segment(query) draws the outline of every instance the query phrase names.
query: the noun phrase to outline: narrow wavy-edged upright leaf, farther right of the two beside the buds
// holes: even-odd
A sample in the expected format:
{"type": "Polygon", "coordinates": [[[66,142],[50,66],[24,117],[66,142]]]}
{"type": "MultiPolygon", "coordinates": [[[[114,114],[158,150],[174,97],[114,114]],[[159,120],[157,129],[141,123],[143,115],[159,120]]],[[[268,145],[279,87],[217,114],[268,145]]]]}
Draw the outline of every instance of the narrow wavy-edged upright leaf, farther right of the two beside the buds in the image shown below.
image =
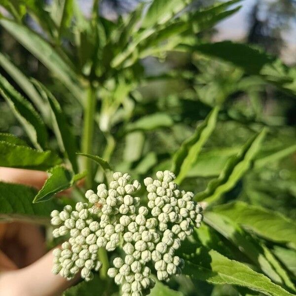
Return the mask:
{"type": "Polygon", "coordinates": [[[204,191],[195,195],[195,199],[213,202],[232,189],[249,170],[266,132],[264,128],[258,135],[250,139],[237,155],[229,159],[219,177],[210,181],[204,191]]]}

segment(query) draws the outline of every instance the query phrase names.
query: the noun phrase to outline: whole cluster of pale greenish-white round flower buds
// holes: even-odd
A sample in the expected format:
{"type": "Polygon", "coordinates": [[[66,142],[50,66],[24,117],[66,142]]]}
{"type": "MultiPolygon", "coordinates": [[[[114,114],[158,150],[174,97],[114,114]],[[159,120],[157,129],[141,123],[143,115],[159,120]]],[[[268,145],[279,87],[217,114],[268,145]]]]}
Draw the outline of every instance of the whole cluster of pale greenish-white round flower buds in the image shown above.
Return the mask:
{"type": "Polygon", "coordinates": [[[182,241],[199,227],[202,208],[193,201],[193,193],[180,190],[170,171],[158,171],[156,180],[146,178],[147,206],[135,196],[141,188],[131,176],[116,172],[109,187],[100,184],[97,193],[88,190],[87,203],[78,202],[75,209],[64,207],[51,213],[51,223],[59,226],[53,236],[70,234],[61,249],[54,250],[53,272],[72,279],[81,270],[86,281],[93,277],[102,262],[98,249],[124,254],[113,260],[108,275],[121,287],[122,296],[148,295],[154,286],[149,277],[152,263],[159,280],[179,275],[184,260],[175,256],[182,241]]]}

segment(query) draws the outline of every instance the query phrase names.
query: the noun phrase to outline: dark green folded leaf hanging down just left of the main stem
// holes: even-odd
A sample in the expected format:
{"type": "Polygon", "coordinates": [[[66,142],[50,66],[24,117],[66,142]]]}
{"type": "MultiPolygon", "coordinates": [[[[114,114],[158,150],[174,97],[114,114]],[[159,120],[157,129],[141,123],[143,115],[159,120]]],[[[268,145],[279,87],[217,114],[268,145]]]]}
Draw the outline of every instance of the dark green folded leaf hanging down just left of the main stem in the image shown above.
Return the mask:
{"type": "Polygon", "coordinates": [[[76,151],[77,145],[72,129],[67,122],[59,102],[52,93],[41,83],[34,80],[40,95],[49,103],[51,109],[51,123],[61,151],[69,158],[75,173],[78,171],[76,151]]]}

